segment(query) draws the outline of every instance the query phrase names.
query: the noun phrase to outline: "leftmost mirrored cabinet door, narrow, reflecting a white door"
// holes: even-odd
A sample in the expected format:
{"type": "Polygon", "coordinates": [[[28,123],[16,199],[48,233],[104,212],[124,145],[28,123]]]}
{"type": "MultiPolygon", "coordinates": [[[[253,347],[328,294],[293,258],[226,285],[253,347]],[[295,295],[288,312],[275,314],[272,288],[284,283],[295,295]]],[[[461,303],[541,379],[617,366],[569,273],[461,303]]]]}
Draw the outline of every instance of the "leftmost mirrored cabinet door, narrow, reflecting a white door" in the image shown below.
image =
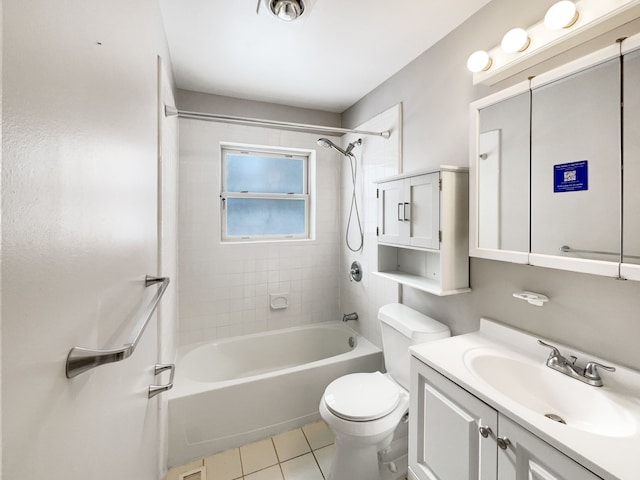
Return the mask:
{"type": "Polygon", "coordinates": [[[470,105],[472,257],[528,263],[529,83],[470,105]]]}

